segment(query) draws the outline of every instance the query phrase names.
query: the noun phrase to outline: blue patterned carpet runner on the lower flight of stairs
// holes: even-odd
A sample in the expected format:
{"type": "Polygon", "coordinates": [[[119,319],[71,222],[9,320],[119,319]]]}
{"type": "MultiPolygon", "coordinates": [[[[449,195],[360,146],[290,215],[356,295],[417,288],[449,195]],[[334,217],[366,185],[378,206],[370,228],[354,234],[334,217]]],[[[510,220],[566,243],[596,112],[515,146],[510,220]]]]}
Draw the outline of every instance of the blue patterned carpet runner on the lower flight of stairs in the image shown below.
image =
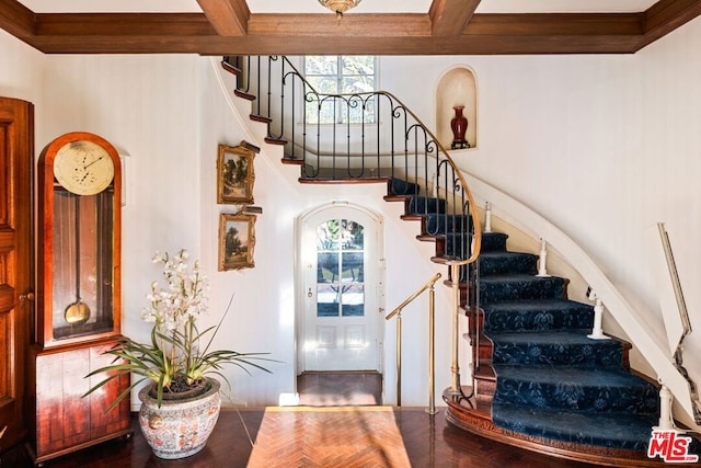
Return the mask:
{"type": "Polygon", "coordinates": [[[480,299],[493,342],[495,425],[530,436],[646,450],[657,389],[623,367],[624,344],[591,340],[594,309],[565,299],[566,282],[538,277],[537,256],[483,235],[480,299]]]}

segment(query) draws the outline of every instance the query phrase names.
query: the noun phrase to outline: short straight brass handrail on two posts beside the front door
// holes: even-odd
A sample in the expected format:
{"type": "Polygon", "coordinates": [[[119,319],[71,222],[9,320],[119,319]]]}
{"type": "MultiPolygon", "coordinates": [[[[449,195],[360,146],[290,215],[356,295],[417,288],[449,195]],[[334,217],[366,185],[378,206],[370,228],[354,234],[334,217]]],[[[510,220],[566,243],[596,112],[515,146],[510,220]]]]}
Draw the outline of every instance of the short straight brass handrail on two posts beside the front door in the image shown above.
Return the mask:
{"type": "Polygon", "coordinates": [[[416,299],[423,292],[428,292],[428,414],[436,414],[436,378],[435,378],[435,334],[436,334],[436,292],[434,284],[440,278],[440,273],[436,273],[430,279],[424,283],[418,289],[412,293],[402,304],[387,315],[384,320],[390,320],[397,316],[397,406],[402,406],[402,309],[416,299]]]}

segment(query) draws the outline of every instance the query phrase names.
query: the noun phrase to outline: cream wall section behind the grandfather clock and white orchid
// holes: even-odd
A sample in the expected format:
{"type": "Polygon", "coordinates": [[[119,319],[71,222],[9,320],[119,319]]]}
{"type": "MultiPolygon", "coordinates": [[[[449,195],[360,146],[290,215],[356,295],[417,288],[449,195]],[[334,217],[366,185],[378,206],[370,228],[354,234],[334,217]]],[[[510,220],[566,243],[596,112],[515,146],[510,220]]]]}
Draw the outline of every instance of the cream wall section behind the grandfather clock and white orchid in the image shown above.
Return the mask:
{"type": "Polygon", "coordinates": [[[199,254],[197,60],[188,56],[47,56],[44,129],[37,148],[76,130],[101,135],[122,153],[123,331],[147,339],[140,320],[158,271],[156,250],[199,254]]]}

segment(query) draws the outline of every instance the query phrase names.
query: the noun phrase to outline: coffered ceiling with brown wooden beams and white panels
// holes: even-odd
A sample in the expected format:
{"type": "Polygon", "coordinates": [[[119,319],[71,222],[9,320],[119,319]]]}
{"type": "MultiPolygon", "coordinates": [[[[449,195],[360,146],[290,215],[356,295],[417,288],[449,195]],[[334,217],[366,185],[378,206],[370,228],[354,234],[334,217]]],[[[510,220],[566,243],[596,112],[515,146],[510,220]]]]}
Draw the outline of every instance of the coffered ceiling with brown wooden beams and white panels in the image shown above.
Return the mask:
{"type": "Polygon", "coordinates": [[[0,0],[0,27],[47,54],[633,54],[701,0],[0,0]]]}

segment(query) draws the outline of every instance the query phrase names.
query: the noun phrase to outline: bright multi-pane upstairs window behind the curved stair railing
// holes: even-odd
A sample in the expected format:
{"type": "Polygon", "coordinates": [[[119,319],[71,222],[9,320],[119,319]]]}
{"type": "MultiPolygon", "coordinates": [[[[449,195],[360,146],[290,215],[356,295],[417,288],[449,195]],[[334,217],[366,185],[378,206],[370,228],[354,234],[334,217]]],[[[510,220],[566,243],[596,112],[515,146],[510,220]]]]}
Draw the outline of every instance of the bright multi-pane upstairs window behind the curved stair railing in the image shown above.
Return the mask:
{"type": "MultiPolygon", "coordinates": [[[[304,77],[321,94],[359,94],[377,88],[376,58],[370,55],[304,57],[304,77]]],[[[375,123],[375,98],[350,95],[343,100],[307,102],[311,124],[375,123]]]]}

